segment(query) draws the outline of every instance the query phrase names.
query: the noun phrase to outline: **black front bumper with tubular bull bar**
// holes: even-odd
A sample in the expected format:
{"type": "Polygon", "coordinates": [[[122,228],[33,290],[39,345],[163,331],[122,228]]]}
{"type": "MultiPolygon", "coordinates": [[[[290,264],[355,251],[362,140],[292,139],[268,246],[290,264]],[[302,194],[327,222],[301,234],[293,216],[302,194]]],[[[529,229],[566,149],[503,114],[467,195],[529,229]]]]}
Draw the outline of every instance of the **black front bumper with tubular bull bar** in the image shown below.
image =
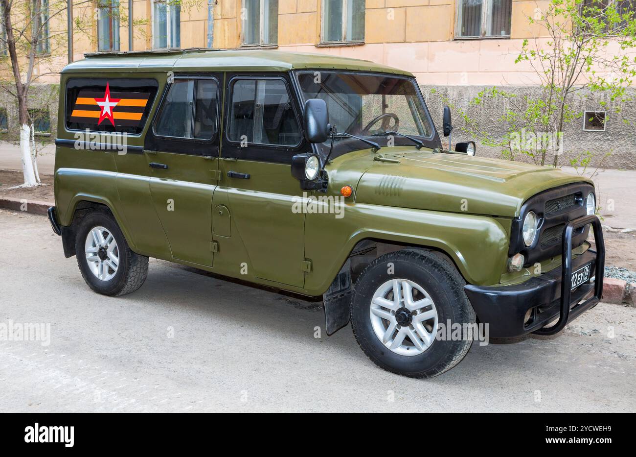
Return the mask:
{"type": "Polygon", "coordinates": [[[480,322],[488,323],[490,336],[516,337],[530,332],[554,335],[598,304],[603,292],[605,246],[597,216],[583,216],[567,223],[562,246],[562,266],[525,283],[511,286],[466,285],[466,295],[480,322]],[[596,251],[588,250],[572,259],[572,232],[587,224],[593,227],[596,251]],[[570,290],[572,272],[588,263],[591,263],[591,271],[594,272],[590,273],[590,279],[594,274],[595,281],[570,290]],[[556,318],[555,325],[545,327],[556,318]]]}

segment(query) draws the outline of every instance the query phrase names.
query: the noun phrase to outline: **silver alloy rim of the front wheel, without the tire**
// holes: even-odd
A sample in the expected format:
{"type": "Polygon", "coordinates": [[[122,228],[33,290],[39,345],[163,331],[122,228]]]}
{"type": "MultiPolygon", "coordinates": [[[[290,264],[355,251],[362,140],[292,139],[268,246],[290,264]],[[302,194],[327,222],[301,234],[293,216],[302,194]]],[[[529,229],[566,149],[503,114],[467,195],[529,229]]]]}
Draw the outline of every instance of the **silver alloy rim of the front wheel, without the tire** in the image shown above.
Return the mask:
{"type": "Polygon", "coordinates": [[[375,335],[396,354],[421,354],[435,340],[435,304],[421,286],[408,279],[391,279],[378,287],[370,316],[375,335]]]}

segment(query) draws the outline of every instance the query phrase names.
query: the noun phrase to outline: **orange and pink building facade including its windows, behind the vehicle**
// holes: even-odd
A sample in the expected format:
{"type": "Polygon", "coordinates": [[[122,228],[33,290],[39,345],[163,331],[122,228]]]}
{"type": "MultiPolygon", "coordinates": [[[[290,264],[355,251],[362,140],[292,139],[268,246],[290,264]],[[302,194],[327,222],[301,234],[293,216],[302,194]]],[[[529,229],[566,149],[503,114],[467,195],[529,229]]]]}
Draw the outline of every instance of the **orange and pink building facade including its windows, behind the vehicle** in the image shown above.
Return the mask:
{"type": "MultiPolygon", "coordinates": [[[[48,4],[56,0],[41,1],[48,4]]],[[[632,0],[605,1],[619,2],[621,8],[636,10],[636,2],[632,0]]],[[[467,102],[489,86],[506,86],[520,95],[532,94],[539,82],[537,74],[529,64],[515,63],[515,59],[524,39],[536,39],[537,43],[548,40],[542,36],[545,35],[542,27],[531,19],[538,18],[550,0],[96,0],[76,3],[73,20],[79,27],[73,30],[73,60],[83,58],[84,53],[130,50],[128,16],[129,4],[132,4],[132,50],[264,48],[368,59],[415,74],[439,125],[443,100],[467,108],[467,102]]],[[[65,15],[55,21],[51,22],[53,29],[65,29],[65,15]]],[[[66,64],[66,48],[56,48],[55,54],[48,43],[42,46],[48,46],[46,49],[51,53],[46,69],[61,69],[66,64]]],[[[52,71],[40,82],[56,81],[52,71]]],[[[6,105],[6,95],[0,95],[0,132],[3,125],[4,131],[10,130],[10,107],[6,105]]],[[[504,106],[496,104],[481,106],[473,108],[473,115],[497,134],[500,133],[497,118],[503,109],[504,106]]],[[[591,101],[582,109],[597,113],[601,107],[598,101],[591,101]]],[[[634,111],[628,107],[623,116],[635,115],[634,111]]],[[[566,131],[566,135],[572,139],[570,144],[574,144],[575,149],[580,144],[607,150],[612,135],[614,138],[623,136],[621,128],[621,119],[606,122],[602,129],[596,130],[585,129],[581,122],[569,127],[571,131],[566,131]]],[[[630,166],[632,157],[625,152],[627,145],[621,144],[619,141],[621,158],[614,162],[616,166],[630,166]]],[[[490,153],[496,155],[497,151],[490,153]]]]}

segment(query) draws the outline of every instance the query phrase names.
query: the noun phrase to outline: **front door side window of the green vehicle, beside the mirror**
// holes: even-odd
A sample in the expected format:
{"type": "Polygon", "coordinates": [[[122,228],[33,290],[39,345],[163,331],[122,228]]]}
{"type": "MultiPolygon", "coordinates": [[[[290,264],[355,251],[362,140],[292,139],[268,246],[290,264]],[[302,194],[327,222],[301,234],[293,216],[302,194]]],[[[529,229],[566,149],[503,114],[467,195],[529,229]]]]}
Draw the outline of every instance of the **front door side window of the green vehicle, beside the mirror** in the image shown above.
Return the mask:
{"type": "Polygon", "coordinates": [[[228,139],[270,146],[300,144],[300,125],[283,80],[233,83],[228,139]]]}

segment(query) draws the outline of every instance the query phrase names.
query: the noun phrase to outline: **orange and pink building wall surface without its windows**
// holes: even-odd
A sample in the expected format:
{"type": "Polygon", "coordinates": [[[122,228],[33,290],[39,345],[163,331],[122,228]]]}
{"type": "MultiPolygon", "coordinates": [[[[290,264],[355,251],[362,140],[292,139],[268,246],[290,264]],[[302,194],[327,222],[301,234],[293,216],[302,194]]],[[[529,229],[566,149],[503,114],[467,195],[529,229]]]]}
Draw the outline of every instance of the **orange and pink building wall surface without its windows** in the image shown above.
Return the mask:
{"type": "MultiPolygon", "coordinates": [[[[213,47],[240,48],[242,20],[241,0],[211,0],[213,4],[213,47]]],[[[184,0],[181,10],[181,48],[205,48],[208,38],[208,0],[184,0]]],[[[523,39],[536,38],[539,45],[548,40],[539,36],[541,28],[530,24],[528,16],[536,8],[544,8],[549,0],[513,0],[510,38],[455,39],[456,0],[366,0],[364,43],[356,45],[321,44],[322,0],[279,0],[278,44],[279,50],[328,53],[357,59],[368,59],[415,74],[431,109],[436,125],[441,125],[442,95],[456,106],[468,109],[471,116],[480,118],[488,131],[502,134],[497,122],[506,107],[485,104],[480,108],[469,107],[467,102],[483,87],[504,85],[508,92],[520,97],[531,94],[538,83],[536,74],[528,64],[515,64],[515,58],[523,39]],[[436,92],[431,94],[431,88],[436,92]]],[[[120,0],[122,17],[128,16],[128,3],[120,0]]],[[[82,24],[82,31],[74,32],[74,60],[83,58],[83,53],[97,51],[97,25],[93,17],[95,3],[75,6],[74,18],[82,24]]],[[[151,0],[134,1],[134,50],[152,48],[152,3],[151,0]]],[[[55,29],[64,30],[66,17],[56,18],[55,29]]],[[[55,85],[59,81],[57,72],[66,65],[66,41],[62,40],[51,57],[39,59],[36,71],[43,76],[39,83],[55,85]]],[[[272,46],[268,46],[272,47],[272,46]]],[[[120,23],[120,50],[127,51],[128,24],[120,23]]],[[[611,50],[609,51],[611,53],[611,50]]],[[[8,67],[2,70],[4,76],[8,67]]],[[[10,74],[8,74],[10,76],[10,74]]],[[[57,101],[40,100],[37,94],[47,93],[46,86],[34,88],[31,107],[49,108],[53,115],[57,111],[57,101]],[[39,106],[42,104],[43,106],[39,106]]],[[[600,101],[590,98],[584,109],[600,109],[600,101]]],[[[7,109],[10,116],[10,132],[1,134],[0,139],[17,136],[17,113],[15,102],[6,94],[0,97],[0,107],[7,109]],[[15,113],[13,116],[12,113],[15,113]]],[[[608,113],[611,104],[607,107],[608,113]]],[[[623,111],[627,119],[636,118],[633,106],[623,111]]],[[[582,122],[574,122],[566,129],[566,149],[570,156],[586,150],[594,150],[597,157],[605,153],[605,166],[636,167],[632,153],[632,139],[629,127],[619,116],[609,116],[605,132],[584,132],[582,122]]],[[[52,128],[55,123],[52,122],[52,128]]],[[[457,140],[462,139],[459,129],[455,130],[457,140]]],[[[52,137],[55,132],[52,133],[52,137]]],[[[466,139],[466,138],[463,138],[466,139]]],[[[480,148],[480,152],[496,157],[499,151],[480,148]]],[[[574,156],[572,156],[574,155],[574,156]]],[[[565,163],[563,162],[562,163],[565,163]]],[[[598,161],[598,158],[595,159],[598,161]]]]}

